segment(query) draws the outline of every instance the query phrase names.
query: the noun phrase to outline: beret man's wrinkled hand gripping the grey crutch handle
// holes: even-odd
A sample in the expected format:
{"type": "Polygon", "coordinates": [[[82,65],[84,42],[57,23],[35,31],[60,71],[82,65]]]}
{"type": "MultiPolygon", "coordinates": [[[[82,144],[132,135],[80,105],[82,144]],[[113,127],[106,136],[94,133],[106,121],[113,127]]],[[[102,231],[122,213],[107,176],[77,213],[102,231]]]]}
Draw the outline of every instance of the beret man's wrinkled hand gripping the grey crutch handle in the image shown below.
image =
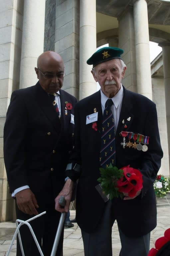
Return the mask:
{"type": "Polygon", "coordinates": [[[73,190],[74,182],[70,179],[68,179],[62,189],[62,191],[59,193],[59,195],[55,198],[55,209],[58,212],[68,212],[70,207],[70,201],[72,198],[72,190],[73,190]],[[61,196],[65,197],[66,204],[65,207],[62,207],[59,204],[59,199],[61,196]]]}

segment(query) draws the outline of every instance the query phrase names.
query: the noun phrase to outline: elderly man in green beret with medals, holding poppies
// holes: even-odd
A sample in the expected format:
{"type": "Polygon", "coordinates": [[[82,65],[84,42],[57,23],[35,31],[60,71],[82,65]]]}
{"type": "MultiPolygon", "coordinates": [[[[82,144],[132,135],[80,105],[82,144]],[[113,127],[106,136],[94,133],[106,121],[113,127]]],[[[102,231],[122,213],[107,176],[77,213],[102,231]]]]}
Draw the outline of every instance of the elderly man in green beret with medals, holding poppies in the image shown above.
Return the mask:
{"type": "MultiPolygon", "coordinates": [[[[147,256],[150,231],[156,226],[156,201],[153,182],[163,152],[156,105],[148,98],[122,85],[126,65],[122,49],[104,47],[88,60],[100,90],[75,106],[75,148],[66,168],[68,179],[55,199],[56,210],[68,211],[74,183],[77,188],[76,220],[82,231],[85,256],[112,255],[112,226],[117,221],[121,256],[147,256]],[[108,136],[105,114],[112,117],[108,136]],[[107,139],[110,139],[107,141],[107,139]],[[138,169],[143,188],[133,197],[104,200],[99,193],[99,167],[130,165],[138,169]],[[66,198],[65,209],[58,200],[66,198]]],[[[109,117],[108,117],[109,118],[109,117]]],[[[108,119],[109,120],[109,119],[108,119]]]]}

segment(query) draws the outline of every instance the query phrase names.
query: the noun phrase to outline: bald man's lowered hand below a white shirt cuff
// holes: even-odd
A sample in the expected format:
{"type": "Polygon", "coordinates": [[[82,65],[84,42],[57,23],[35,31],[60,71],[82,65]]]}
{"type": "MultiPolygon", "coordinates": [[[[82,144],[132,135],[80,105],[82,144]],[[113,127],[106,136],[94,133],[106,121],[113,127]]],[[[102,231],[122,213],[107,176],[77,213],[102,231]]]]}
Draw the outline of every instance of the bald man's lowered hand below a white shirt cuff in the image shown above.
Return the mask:
{"type": "Polygon", "coordinates": [[[16,194],[16,201],[20,211],[29,215],[38,214],[36,208],[39,208],[39,206],[31,189],[27,188],[18,192],[16,194]]]}

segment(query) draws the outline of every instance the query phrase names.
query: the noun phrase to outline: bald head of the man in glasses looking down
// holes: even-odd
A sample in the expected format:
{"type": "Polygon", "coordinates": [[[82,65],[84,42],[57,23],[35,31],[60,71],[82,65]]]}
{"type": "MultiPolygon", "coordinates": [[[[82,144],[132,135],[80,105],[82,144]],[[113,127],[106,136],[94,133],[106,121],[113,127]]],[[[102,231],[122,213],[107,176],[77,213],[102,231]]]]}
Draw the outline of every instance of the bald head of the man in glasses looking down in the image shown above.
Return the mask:
{"type": "Polygon", "coordinates": [[[64,62],[62,57],[53,51],[42,53],[37,59],[37,68],[35,68],[37,78],[41,87],[47,93],[54,93],[63,86],[64,62]]]}

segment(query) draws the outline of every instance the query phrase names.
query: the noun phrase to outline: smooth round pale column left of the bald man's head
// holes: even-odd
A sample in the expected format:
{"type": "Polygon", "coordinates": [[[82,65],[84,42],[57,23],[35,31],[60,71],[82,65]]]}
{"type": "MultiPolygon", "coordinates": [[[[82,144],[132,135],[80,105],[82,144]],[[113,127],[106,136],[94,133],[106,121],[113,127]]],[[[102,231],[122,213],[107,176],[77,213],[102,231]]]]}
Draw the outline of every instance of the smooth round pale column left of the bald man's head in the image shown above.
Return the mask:
{"type": "Polygon", "coordinates": [[[45,0],[25,0],[20,68],[20,88],[37,83],[34,67],[44,51],[45,0]]]}

